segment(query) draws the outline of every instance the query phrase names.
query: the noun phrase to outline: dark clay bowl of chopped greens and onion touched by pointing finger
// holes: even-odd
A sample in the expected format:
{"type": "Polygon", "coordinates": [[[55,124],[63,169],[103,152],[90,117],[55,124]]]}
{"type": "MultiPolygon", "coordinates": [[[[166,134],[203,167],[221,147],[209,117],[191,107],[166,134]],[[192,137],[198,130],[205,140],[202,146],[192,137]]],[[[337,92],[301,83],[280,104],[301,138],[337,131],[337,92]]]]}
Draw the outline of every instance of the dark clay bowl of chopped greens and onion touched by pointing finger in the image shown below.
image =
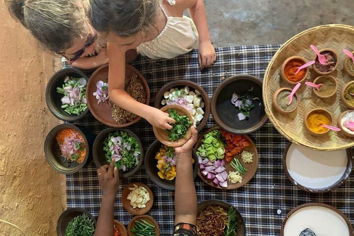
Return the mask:
{"type": "Polygon", "coordinates": [[[134,167],[131,170],[128,171],[121,171],[119,170],[119,177],[120,178],[127,178],[127,177],[131,177],[133,176],[139,169],[140,166],[143,164],[144,161],[144,148],[143,148],[143,144],[141,143],[139,137],[133,133],[132,131],[130,131],[129,129],[123,129],[123,128],[107,128],[102,130],[96,137],[96,139],[94,140],[93,143],[93,148],[92,148],[92,153],[93,153],[93,161],[96,165],[97,168],[100,168],[101,166],[104,165],[109,165],[110,163],[107,161],[107,158],[105,156],[106,151],[103,150],[103,142],[105,141],[105,139],[107,138],[109,133],[113,133],[115,131],[124,131],[127,132],[128,134],[130,134],[131,136],[133,136],[134,138],[136,138],[136,140],[139,143],[140,146],[140,159],[139,159],[139,163],[136,167],[134,167]]]}

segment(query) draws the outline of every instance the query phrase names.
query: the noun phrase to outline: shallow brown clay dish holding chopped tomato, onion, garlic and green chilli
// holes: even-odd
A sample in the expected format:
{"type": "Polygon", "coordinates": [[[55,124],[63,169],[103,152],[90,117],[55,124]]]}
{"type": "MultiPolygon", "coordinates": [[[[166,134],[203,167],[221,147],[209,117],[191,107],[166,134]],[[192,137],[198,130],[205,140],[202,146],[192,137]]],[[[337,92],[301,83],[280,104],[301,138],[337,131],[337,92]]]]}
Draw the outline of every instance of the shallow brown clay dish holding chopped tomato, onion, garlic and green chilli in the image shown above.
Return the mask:
{"type": "MultiPolygon", "coordinates": [[[[209,133],[210,131],[213,131],[215,129],[219,129],[221,130],[220,127],[215,126],[212,127],[208,130],[206,130],[198,139],[196,145],[194,146],[194,149],[197,151],[197,149],[201,146],[202,143],[202,139],[204,138],[204,135],[206,135],[207,133],[209,133]]],[[[243,150],[245,151],[249,151],[253,153],[253,162],[252,163],[243,163],[241,155],[235,155],[234,158],[237,158],[239,160],[239,162],[247,169],[247,172],[245,173],[245,175],[241,175],[242,176],[242,182],[241,183],[231,183],[229,180],[228,181],[228,187],[227,188],[223,188],[220,187],[220,185],[216,185],[213,183],[213,181],[211,179],[207,179],[207,177],[203,176],[203,174],[201,173],[201,171],[198,171],[198,176],[207,184],[209,184],[210,186],[214,187],[214,188],[218,188],[218,189],[223,189],[223,190],[229,190],[229,189],[236,189],[239,187],[242,187],[243,185],[245,185],[246,183],[248,183],[253,176],[256,174],[257,168],[258,168],[258,151],[257,148],[255,146],[255,144],[253,143],[253,141],[250,139],[250,137],[248,137],[247,135],[243,135],[246,140],[248,142],[250,142],[250,146],[244,148],[243,150]]],[[[229,171],[236,171],[234,168],[232,168],[230,166],[230,163],[226,162],[225,165],[226,168],[226,172],[229,174],[229,171]]]]}

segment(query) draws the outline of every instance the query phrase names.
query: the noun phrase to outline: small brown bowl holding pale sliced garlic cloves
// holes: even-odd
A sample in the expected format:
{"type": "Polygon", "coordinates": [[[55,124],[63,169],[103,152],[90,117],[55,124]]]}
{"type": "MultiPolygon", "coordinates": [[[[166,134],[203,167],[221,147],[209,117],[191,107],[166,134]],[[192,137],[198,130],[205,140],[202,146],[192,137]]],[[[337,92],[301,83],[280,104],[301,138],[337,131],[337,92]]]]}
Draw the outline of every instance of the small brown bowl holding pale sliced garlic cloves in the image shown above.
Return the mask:
{"type": "Polygon", "coordinates": [[[125,186],[125,188],[123,189],[122,191],[122,204],[123,204],[123,207],[129,211],[131,214],[133,215],[144,215],[146,214],[152,207],[152,204],[153,204],[153,194],[152,194],[152,191],[151,189],[145,185],[144,183],[130,183],[128,184],[127,186],[125,186]],[[134,184],[135,185],[138,185],[138,186],[142,186],[144,188],[146,188],[148,190],[148,193],[150,195],[150,200],[146,203],[146,207],[145,208],[133,208],[133,206],[130,205],[130,200],[127,199],[129,193],[131,192],[131,190],[129,190],[129,188],[131,187],[134,187],[134,184]]]}

